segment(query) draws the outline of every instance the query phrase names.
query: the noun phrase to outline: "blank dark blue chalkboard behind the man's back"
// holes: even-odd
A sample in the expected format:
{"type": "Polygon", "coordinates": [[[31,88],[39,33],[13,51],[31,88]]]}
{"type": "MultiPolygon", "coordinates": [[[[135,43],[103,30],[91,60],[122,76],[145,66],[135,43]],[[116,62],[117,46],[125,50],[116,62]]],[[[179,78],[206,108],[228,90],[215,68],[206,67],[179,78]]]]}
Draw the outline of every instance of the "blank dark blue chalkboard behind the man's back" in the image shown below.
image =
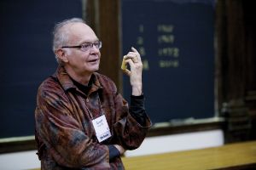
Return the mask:
{"type": "Polygon", "coordinates": [[[55,23],[82,17],[81,0],[1,0],[0,138],[34,134],[38,86],[54,73],[55,23]]]}

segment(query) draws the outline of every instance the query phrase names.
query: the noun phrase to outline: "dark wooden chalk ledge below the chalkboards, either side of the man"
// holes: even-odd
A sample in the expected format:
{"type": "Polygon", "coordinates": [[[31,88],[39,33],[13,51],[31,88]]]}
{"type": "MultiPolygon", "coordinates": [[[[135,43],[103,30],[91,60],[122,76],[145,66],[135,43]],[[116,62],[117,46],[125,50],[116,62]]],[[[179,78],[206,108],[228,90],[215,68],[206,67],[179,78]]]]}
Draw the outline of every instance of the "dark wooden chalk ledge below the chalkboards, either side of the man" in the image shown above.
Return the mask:
{"type": "MultiPolygon", "coordinates": [[[[172,120],[171,122],[155,123],[148,132],[148,137],[169,135],[175,133],[190,133],[207,131],[214,129],[224,129],[224,119],[221,117],[213,117],[207,119],[185,119],[172,120]]],[[[15,137],[0,139],[0,154],[36,150],[36,141],[34,136],[15,137]]]]}

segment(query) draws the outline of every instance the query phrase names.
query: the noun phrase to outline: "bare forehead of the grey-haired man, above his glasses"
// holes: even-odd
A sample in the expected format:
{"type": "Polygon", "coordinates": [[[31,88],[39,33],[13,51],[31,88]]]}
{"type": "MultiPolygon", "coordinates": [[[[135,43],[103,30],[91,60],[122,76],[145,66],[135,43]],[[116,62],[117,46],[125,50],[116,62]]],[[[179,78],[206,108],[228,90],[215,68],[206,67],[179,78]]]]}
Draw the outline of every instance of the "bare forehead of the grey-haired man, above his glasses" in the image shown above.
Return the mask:
{"type": "Polygon", "coordinates": [[[84,23],[73,23],[67,26],[67,32],[69,40],[72,42],[94,42],[98,39],[90,26],[84,23]]]}

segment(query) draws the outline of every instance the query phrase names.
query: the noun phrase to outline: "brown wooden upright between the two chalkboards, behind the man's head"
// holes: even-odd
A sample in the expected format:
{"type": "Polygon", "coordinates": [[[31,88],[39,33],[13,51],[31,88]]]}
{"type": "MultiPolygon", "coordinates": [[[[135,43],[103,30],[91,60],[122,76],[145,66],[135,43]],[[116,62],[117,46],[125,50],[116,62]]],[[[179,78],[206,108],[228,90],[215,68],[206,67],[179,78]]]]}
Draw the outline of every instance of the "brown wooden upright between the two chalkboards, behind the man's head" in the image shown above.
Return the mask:
{"type": "Polygon", "coordinates": [[[84,17],[102,40],[100,72],[112,78],[121,90],[119,2],[88,0],[84,17]]]}

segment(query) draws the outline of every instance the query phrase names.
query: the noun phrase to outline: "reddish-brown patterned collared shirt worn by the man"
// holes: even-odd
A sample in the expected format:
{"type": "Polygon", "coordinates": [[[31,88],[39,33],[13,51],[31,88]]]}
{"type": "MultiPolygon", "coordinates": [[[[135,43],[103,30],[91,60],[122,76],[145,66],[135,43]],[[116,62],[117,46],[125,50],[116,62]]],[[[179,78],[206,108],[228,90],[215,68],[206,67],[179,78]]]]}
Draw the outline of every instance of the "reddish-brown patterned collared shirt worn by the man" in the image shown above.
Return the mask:
{"type": "Polygon", "coordinates": [[[38,88],[35,120],[42,169],[125,169],[119,156],[109,160],[109,145],[134,150],[142,144],[151,126],[143,102],[133,99],[129,108],[108,77],[94,73],[91,79],[84,93],[60,66],[38,88]],[[141,104],[136,114],[133,103],[141,104]],[[99,143],[92,120],[102,115],[112,136],[99,143]]]}

